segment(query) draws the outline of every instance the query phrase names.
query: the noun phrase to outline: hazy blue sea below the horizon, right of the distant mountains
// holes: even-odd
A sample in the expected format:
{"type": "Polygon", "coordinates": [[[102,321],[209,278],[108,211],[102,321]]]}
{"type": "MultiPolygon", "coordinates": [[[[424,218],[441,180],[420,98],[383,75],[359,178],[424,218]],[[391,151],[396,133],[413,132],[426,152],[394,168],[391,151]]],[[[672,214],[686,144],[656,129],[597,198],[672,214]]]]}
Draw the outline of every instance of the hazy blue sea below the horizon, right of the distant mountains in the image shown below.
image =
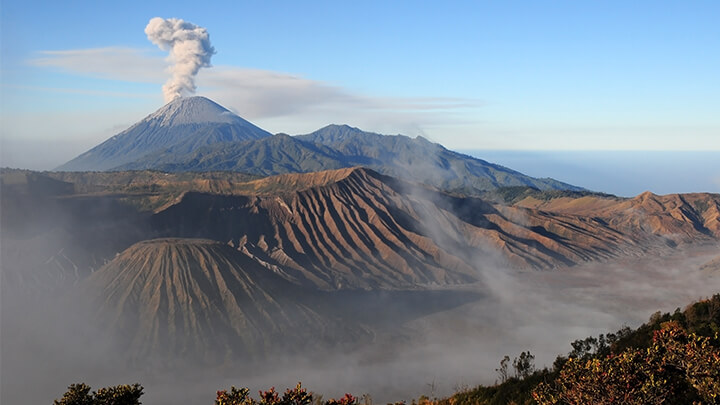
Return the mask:
{"type": "Polygon", "coordinates": [[[461,150],[533,177],[622,197],[720,193],[720,152],[461,150]]]}

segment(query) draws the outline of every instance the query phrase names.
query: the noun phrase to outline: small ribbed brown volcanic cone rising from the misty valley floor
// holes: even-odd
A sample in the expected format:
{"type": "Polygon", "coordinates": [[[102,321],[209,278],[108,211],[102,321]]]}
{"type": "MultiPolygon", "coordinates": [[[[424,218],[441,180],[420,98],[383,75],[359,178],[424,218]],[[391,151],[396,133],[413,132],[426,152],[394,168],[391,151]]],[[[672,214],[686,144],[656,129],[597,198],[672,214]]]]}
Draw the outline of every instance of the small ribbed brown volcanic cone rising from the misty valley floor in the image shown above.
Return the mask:
{"type": "Polygon", "coordinates": [[[136,362],[252,358],[306,349],[337,331],[302,304],[297,286],[211,240],[136,243],[82,288],[99,326],[120,336],[122,352],[136,362]]]}

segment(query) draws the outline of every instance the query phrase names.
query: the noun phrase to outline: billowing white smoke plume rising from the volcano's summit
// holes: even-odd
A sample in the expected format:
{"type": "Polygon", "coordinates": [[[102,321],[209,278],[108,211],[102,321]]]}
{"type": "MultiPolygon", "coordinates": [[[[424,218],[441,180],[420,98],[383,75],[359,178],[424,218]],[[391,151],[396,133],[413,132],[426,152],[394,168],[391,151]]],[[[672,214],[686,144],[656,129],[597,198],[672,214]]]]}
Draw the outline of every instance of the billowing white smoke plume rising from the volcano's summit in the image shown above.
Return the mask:
{"type": "Polygon", "coordinates": [[[195,93],[195,75],[200,68],[211,66],[215,54],[207,30],[179,18],[155,17],[145,27],[145,34],[160,49],[170,51],[172,77],[163,86],[165,101],[195,93]]]}

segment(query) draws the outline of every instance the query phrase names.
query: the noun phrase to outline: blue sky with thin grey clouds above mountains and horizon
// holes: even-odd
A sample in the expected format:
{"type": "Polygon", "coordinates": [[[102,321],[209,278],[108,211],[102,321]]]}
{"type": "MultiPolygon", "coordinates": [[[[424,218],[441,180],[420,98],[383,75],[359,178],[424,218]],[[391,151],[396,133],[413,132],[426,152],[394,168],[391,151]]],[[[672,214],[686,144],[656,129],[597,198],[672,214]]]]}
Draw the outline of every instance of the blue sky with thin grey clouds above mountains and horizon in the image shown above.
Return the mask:
{"type": "Polygon", "coordinates": [[[720,151],[717,1],[5,0],[0,13],[3,165],[54,167],[159,108],[153,17],[205,27],[217,53],[197,94],[271,132],[720,151]]]}

